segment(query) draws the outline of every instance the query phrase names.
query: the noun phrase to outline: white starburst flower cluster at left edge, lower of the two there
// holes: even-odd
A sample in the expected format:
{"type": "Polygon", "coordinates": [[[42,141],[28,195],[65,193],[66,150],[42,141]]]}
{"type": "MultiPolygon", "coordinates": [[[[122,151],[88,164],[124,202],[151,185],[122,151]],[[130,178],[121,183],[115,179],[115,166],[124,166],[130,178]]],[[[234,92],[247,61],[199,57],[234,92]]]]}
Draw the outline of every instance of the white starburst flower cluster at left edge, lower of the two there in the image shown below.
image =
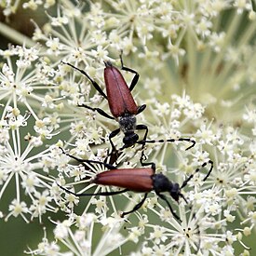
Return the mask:
{"type": "Polygon", "coordinates": [[[50,149],[36,153],[34,148],[42,145],[41,138],[29,133],[21,138],[22,130],[28,126],[29,115],[21,115],[18,108],[10,106],[5,108],[4,113],[5,118],[1,122],[0,131],[0,200],[3,200],[3,195],[12,182],[15,182],[16,192],[16,196],[8,205],[5,220],[7,221],[10,216],[21,216],[29,222],[28,215],[31,215],[31,219],[41,220],[44,213],[56,209],[56,206],[50,204],[52,197],[49,195],[49,183],[54,180],[42,172],[42,158],[50,149]],[[26,141],[26,145],[21,141],[26,141]],[[30,206],[26,203],[27,198],[31,201],[30,206]]]}

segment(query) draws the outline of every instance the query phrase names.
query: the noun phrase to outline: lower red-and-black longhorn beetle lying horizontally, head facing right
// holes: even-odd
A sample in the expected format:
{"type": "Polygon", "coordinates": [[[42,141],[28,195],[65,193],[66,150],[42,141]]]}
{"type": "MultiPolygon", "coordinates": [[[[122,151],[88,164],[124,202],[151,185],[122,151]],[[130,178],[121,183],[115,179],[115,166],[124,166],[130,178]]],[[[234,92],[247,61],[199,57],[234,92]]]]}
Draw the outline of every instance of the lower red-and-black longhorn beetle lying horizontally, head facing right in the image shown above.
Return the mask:
{"type": "Polygon", "coordinates": [[[93,160],[84,160],[79,159],[75,157],[74,155],[69,155],[64,152],[64,150],[61,148],[61,151],[70,157],[72,157],[74,160],[78,161],[79,163],[82,163],[82,165],[86,168],[88,168],[85,163],[88,164],[100,164],[104,166],[105,168],[108,168],[109,170],[103,171],[101,173],[98,173],[94,179],[92,179],[90,182],[99,184],[99,185],[108,185],[108,186],[116,186],[120,188],[124,188],[120,191],[113,191],[113,192],[101,192],[101,193],[74,193],[60,184],[58,184],[62,190],[64,190],[66,193],[75,195],[75,196],[86,196],[86,195],[118,195],[122,194],[128,191],[133,191],[137,193],[144,193],[144,197],[142,198],[141,202],[139,202],[135,207],[131,210],[128,210],[126,212],[123,212],[121,214],[121,217],[124,217],[125,215],[134,212],[141,208],[144,201],[147,198],[147,195],[151,191],[155,191],[155,194],[158,195],[161,199],[163,199],[167,205],[168,209],[171,211],[172,215],[181,222],[180,217],[174,212],[174,210],[171,208],[168,199],[166,195],[163,195],[162,193],[168,192],[169,195],[177,202],[179,202],[180,197],[183,198],[183,200],[187,203],[187,200],[185,199],[184,195],[182,195],[181,190],[184,188],[187,183],[194,177],[195,173],[198,172],[201,168],[204,168],[207,164],[210,165],[209,172],[204,178],[204,182],[208,179],[209,174],[213,168],[213,162],[209,160],[209,162],[205,162],[202,164],[200,168],[196,168],[195,172],[191,174],[184,182],[182,182],[182,185],[180,186],[178,183],[173,183],[168,180],[168,177],[165,176],[162,173],[156,174],[155,173],[155,163],[144,163],[142,161],[142,155],[141,155],[141,166],[147,168],[116,168],[115,166],[107,163],[103,163],[100,161],[93,161],[93,160]]]}

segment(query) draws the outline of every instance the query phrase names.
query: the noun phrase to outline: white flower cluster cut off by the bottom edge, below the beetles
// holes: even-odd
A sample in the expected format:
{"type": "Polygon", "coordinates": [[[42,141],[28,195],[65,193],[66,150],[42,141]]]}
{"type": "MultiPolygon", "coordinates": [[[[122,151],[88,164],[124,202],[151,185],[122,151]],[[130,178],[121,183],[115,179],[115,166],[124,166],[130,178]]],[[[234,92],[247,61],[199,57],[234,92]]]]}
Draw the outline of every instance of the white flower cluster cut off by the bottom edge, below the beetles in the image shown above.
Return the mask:
{"type": "Polygon", "coordinates": [[[120,220],[112,219],[99,221],[97,216],[92,213],[81,216],[71,215],[68,220],[63,222],[52,221],[56,225],[53,230],[56,241],[48,241],[45,231],[42,242],[38,244],[38,249],[30,249],[26,252],[33,255],[72,255],[70,251],[74,251],[77,255],[107,255],[128,240],[119,232],[120,222],[120,220]],[[101,246],[93,249],[92,242],[95,242],[93,232],[98,225],[103,229],[102,236],[97,241],[101,246]]]}

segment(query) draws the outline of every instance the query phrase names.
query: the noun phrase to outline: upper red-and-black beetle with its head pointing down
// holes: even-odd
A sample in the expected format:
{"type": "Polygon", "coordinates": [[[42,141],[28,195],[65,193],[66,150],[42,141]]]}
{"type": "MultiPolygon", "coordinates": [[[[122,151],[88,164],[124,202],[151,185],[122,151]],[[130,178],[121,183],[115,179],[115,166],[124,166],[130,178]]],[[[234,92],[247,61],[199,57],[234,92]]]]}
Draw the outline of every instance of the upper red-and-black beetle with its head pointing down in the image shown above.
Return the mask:
{"type": "MultiPolygon", "coordinates": [[[[134,74],[132,78],[131,84],[128,87],[126,80],[120,71],[110,62],[104,61],[105,69],[104,69],[104,82],[106,86],[106,94],[102,91],[99,84],[94,81],[84,70],[81,70],[75,67],[73,64],[64,62],[79,71],[81,74],[84,74],[88,77],[88,80],[91,82],[92,86],[98,90],[98,92],[108,101],[110,112],[113,116],[108,115],[101,108],[93,108],[86,104],[78,105],[79,107],[85,107],[89,110],[96,111],[100,115],[107,117],[109,119],[115,119],[119,123],[119,128],[112,131],[109,135],[109,140],[112,145],[112,148],[115,150],[115,145],[112,139],[122,131],[125,135],[123,139],[123,149],[128,148],[136,143],[139,140],[138,134],[136,134],[135,130],[145,130],[144,137],[142,141],[146,140],[148,128],[145,125],[137,125],[136,124],[136,115],[139,115],[146,108],[146,104],[142,104],[138,106],[134,101],[131,91],[137,85],[140,74],[137,71],[125,67],[122,59],[122,54],[120,54],[121,61],[121,70],[128,71],[129,73],[134,74]]],[[[142,143],[143,147],[143,143],[142,143]]]]}

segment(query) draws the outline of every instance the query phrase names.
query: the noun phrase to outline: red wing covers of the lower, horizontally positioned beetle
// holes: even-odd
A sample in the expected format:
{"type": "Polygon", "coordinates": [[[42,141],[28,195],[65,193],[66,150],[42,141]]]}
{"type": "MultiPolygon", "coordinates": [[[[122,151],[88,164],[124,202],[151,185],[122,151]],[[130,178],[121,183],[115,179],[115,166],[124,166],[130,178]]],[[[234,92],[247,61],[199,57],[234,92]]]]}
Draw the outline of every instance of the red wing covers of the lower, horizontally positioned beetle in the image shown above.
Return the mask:
{"type": "Polygon", "coordinates": [[[126,188],[133,192],[150,192],[154,189],[153,168],[118,168],[101,172],[92,183],[126,188]]]}

